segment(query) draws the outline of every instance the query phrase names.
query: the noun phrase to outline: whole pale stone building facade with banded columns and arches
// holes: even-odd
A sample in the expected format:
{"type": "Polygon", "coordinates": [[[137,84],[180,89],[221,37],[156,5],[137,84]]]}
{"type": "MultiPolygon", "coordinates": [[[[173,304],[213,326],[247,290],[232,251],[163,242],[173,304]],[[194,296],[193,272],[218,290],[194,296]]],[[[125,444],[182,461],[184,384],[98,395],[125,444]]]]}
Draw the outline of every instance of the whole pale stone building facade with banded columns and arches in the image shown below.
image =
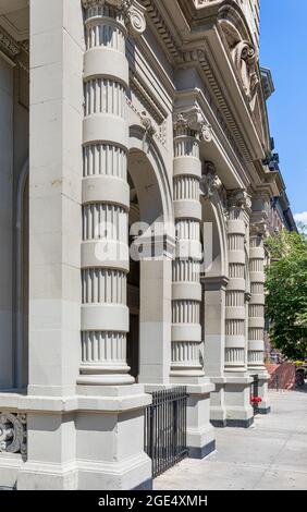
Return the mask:
{"type": "Polygon", "coordinates": [[[259,2],[0,7],[0,487],[149,487],[152,391],[194,458],[270,411],[259,2]]]}

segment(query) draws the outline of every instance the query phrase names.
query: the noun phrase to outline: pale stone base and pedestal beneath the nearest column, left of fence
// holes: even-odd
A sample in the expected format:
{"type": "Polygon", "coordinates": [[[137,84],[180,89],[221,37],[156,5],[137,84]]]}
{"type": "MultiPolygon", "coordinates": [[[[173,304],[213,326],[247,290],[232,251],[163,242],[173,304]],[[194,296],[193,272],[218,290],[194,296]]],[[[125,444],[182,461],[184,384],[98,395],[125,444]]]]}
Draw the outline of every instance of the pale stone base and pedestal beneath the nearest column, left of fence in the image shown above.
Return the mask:
{"type": "Polygon", "coordinates": [[[152,467],[144,452],[144,409],[150,401],[139,385],[79,387],[78,394],[67,398],[0,394],[0,409],[27,417],[27,461],[0,454],[0,486],[149,489],[152,467]]]}

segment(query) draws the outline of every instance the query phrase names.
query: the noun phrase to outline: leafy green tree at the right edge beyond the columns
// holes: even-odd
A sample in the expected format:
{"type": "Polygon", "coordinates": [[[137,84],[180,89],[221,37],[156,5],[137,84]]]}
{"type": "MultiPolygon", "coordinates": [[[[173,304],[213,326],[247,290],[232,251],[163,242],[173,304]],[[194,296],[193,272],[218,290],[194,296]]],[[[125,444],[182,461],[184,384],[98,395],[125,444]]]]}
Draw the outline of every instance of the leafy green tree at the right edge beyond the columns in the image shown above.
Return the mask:
{"type": "Polygon", "coordinates": [[[291,359],[307,357],[307,236],[303,228],[300,233],[282,230],[266,241],[271,256],[266,270],[270,338],[291,359]]]}

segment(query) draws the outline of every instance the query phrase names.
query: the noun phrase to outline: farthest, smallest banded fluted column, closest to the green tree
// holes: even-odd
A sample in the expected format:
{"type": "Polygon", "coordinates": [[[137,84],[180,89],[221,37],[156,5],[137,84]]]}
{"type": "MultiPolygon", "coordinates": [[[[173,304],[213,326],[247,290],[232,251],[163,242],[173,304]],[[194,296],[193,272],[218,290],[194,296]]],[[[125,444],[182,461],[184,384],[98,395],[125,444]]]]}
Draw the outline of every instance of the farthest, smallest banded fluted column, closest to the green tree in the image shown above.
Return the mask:
{"type": "Polygon", "coordinates": [[[259,411],[270,412],[268,373],[265,366],[265,248],[266,224],[255,222],[249,230],[250,303],[248,310],[248,371],[259,379],[259,411]]]}

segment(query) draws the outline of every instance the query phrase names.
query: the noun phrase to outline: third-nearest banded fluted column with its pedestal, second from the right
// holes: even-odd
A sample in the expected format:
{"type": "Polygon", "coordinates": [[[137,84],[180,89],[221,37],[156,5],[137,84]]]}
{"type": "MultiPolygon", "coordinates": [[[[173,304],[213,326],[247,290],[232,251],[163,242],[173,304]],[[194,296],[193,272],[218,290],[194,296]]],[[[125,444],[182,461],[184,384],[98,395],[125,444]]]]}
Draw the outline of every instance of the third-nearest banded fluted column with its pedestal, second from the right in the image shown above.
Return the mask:
{"type": "Polygon", "coordinates": [[[225,307],[226,424],[249,426],[253,409],[249,403],[250,381],[247,374],[246,340],[246,251],[247,211],[249,198],[235,191],[229,198],[228,245],[229,283],[225,307]]]}

